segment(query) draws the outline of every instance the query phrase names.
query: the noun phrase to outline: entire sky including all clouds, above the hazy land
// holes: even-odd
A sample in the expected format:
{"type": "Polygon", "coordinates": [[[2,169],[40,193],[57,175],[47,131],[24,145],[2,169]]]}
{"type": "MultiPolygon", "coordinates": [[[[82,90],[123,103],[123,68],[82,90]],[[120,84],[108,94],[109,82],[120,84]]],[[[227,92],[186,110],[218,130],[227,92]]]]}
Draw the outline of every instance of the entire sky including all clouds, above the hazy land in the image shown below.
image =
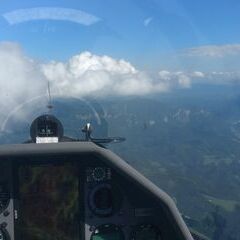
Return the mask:
{"type": "Polygon", "coordinates": [[[48,82],[61,97],[239,84],[239,12],[238,0],[1,0],[0,110],[48,82]]]}

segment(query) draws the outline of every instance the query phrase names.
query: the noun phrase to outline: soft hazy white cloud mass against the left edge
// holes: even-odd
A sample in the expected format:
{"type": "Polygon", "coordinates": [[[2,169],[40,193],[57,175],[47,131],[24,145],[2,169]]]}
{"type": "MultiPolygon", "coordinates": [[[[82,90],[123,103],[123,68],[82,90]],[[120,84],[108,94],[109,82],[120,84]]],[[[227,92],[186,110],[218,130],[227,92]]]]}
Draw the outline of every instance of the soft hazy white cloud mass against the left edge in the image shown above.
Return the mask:
{"type": "Polygon", "coordinates": [[[44,75],[38,63],[14,43],[0,43],[0,119],[19,103],[43,92],[44,75]]]}

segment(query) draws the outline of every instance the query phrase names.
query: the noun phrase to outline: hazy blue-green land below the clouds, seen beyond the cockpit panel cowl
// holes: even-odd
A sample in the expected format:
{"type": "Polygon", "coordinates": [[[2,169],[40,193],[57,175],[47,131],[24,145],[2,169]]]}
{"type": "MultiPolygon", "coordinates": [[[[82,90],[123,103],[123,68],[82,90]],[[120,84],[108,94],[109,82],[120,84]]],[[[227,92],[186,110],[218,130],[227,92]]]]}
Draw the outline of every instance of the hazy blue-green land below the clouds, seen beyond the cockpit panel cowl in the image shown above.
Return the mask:
{"type": "MultiPolygon", "coordinates": [[[[110,148],[169,193],[189,226],[211,239],[240,239],[237,88],[198,86],[148,98],[55,100],[54,105],[67,135],[82,137],[80,129],[90,121],[98,137],[126,137],[110,148]]],[[[1,143],[26,140],[32,120],[16,122],[13,116],[1,143]]]]}

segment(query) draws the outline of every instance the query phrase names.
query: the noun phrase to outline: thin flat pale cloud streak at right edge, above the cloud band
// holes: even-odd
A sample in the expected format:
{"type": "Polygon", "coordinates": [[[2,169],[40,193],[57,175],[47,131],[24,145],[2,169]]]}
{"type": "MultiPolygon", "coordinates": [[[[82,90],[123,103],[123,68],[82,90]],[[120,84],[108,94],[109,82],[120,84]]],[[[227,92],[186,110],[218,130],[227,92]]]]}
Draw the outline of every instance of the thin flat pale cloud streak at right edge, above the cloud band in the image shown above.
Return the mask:
{"type": "Polygon", "coordinates": [[[182,51],[182,54],[190,57],[222,58],[229,55],[239,55],[240,44],[207,45],[189,48],[182,51]]]}

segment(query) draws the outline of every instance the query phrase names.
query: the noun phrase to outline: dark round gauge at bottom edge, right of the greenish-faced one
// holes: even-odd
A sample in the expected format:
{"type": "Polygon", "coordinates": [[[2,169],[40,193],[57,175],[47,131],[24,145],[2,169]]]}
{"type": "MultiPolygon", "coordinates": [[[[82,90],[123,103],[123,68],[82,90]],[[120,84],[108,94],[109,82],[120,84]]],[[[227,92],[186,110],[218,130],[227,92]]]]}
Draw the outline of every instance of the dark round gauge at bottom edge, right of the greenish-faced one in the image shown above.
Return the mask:
{"type": "Polygon", "coordinates": [[[137,226],[131,240],[161,240],[159,229],[152,224],[137,226]]]}

